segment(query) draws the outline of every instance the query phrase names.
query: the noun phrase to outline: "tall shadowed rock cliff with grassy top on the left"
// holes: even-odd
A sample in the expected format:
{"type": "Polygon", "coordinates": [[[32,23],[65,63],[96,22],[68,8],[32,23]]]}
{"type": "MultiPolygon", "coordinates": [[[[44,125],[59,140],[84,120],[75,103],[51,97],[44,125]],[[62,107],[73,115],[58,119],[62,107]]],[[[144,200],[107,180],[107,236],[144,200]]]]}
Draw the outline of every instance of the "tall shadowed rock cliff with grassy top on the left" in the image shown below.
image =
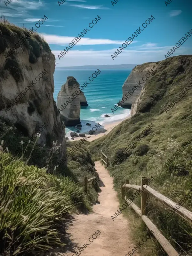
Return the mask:
{"type": "Polygon", "coordinates": [[[53,99],[55,57],[48,44],[37,33],[3,23],[0,43],[0,116],[25,136],[40,132],[40,145],[57,140],[62,156],[65,128],[53,99]]]}

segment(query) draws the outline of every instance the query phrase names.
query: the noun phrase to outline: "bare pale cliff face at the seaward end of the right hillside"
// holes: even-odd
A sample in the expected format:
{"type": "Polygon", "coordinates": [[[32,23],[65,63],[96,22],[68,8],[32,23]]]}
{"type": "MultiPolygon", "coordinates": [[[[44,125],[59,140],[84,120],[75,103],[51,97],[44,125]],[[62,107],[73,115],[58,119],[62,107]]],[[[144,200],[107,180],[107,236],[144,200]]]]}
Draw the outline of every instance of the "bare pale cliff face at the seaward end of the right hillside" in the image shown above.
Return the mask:
{"type": "Polygon", "coordinates": [[[156,70],[156,67],[157,67],[156,63],[149,62],[143,65],[138,65],[133,68],[131,74],[127,77],[127,79],[125,80],[122,86],[123,97],[130,96],[125,102],[123,102],[122,100],[123,102],[121,104],[122,108],[131,109],[133,102],[135,102],[135,100],[137,99],[137,96],[140,94],[145,83],[151,79],[152,75],[156,70]],[[151,69],[154,72],[152,72],[151,69]],[[149,75],[147,75],[146,77],[146,74],[149,74],[149,75]],[[140,84],[139,84],[139,81],[140,81],[140,84]],[[127,94],[127,96],[125,96],[125,94],[127,94]]]}

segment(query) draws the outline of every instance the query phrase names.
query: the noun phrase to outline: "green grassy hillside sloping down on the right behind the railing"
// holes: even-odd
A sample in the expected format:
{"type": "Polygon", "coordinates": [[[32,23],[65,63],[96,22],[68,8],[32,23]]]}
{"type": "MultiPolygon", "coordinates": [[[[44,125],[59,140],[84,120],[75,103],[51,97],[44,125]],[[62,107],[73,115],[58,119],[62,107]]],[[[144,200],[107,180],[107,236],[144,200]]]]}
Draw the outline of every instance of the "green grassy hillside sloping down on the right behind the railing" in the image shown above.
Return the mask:
{"type": "MultiPolygon", "coordinates": [[[[147,65],[144,63],[141,68],[147,65]]],[[[175,202],[192,189],[191,89],[192,56],[156,62],[155,74],[132,104],[132,117],[89,145],[94,160],[99,160],[100,149],[108,156],[108,170],[119,195],[121,182],[129,179],[130,184],[140,185],[141,176],[152,176],[150,186],[175,202]],[[179,148],[182,153],[176,154],[179,148]]],[[[174,248],[189,249],[192,246],[189,224],[175,214],[168,216],[168,209],[152,198],[149,200],[150,219],[174,248]]],[[[136,204],[140,207],[137,199],[136,204]]],[[[183,207],[191,210],[191,206],[192,199],[187,199],[183,207]]],[[[138,232],[140,221],[130,210],[131,216],[138,232]]],[[[166,254],[159,248],[157,255],[166,254]]]]}

